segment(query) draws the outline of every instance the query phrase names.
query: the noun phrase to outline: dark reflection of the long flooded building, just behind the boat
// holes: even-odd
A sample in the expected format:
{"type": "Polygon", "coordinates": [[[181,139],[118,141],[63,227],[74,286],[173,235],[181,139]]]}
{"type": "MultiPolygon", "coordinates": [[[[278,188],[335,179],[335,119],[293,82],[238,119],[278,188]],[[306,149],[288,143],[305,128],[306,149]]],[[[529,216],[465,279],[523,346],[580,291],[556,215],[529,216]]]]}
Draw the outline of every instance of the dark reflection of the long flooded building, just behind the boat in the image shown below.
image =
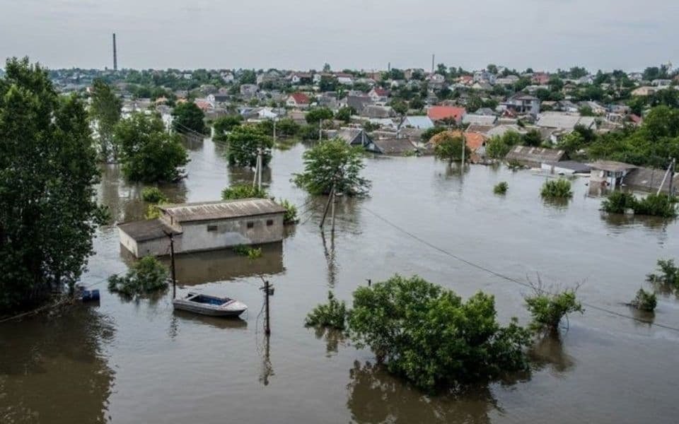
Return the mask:
{"type": "MultiPolygon", "coordinates": [[[[285,270],[283,244],[270,243],[261,248],[262,257],[257,259],[238,256],[231,249],[178,254],[175,256],[177,282],[181,285],[197,285],[282,273],[285,270]]],[[[162,257],[161,261],[170,266],[169,257],[162,257]]]]}

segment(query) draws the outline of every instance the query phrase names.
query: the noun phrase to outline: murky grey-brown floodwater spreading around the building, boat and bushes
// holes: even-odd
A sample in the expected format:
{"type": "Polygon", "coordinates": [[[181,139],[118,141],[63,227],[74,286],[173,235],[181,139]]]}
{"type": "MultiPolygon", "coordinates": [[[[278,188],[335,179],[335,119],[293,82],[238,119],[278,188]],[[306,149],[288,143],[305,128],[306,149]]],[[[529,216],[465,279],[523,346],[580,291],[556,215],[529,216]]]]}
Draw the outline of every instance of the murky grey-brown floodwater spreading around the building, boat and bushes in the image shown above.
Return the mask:
{"type": "MultiPolygon", "coordinates": [[[[193,142],[188,179],[162,187],[173,201],[218,199],[250,172],[227,170],[223,149],[193,142]]],[[[117,230],[101,228],[83,277],[98,307],[0,324],[1,423],[676,423],[679,299],[661,295],[654,316],[629,302],[656,259],[677,257],[677,222],[608,218],[585,179],[567,204],[545,204],[544,176],[471,166],[463,175],[433,158],[368,158],[367,199],[342,199],[335,236],[318,223],[325,199],[291,182],[304,146],[275,151],[264,178],[294,201],[301,224],[260,259],[229,252],[178,257],[178,293],[243,300],[229,321],[173,312],[171,290],[123,300],[105,278],[126,269],[117,230]],[[509,182],[505,196],[492,194],[509,182]],[[426,245],[425,240],[429,245],[426,245]],[[460,261],[458,259],[463,259],[460,261]],[[496,297],[499,319],[528,320],[527,278],[580,283],[584,315],[560,340],[545,339],[525,375],[459,393],[426,396],[337,334],[303,319],[327,291],[351,299],[369,278],[419,274],[468,296],[496,297]],[[262,331],[263,278],[274,285],[272,335],[262,331]],[[630,317],[637,317],[635,321],[630,317]],[[653,322],[654,324],[644,323],[653,322]]],[[[141,187],[108,168],[99,189],[122,222],[141,217],[141,187]]]]}

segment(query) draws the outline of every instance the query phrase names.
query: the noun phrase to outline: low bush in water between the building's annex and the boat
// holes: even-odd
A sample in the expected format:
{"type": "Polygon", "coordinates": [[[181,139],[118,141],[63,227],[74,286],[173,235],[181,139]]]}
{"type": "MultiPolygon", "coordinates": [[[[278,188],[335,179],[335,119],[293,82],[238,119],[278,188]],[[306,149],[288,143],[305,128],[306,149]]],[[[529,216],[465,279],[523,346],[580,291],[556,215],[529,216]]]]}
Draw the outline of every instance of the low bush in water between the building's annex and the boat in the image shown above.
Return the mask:
{"type": "Polygon", "coordinates": [[[154,257],[144,257],[125,276],[108,278],[108,290],[125,296],[145,295],[168,286],[168,269],[154,257]]]}

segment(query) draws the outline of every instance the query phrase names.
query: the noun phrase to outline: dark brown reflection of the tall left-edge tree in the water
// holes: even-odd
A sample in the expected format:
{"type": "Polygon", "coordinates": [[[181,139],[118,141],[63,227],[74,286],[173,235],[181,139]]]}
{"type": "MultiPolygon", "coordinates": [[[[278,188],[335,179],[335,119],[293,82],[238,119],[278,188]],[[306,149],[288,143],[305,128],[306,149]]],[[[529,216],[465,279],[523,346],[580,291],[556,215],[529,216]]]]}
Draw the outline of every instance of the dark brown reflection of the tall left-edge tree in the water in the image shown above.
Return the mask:
{"type": "Polygon", "coordinates": [[[0,325],[0,423],[105,422],[113,331],[82,306],[0,325]]]}

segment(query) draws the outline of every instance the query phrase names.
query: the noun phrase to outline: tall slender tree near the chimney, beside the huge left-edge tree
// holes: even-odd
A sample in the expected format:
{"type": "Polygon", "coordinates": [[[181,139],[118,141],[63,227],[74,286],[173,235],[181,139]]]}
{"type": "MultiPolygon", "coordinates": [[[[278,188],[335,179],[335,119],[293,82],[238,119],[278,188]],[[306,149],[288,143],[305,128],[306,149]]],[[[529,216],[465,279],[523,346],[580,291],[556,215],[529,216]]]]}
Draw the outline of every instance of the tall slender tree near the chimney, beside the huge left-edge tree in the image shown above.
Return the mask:
{"type": "Polygon", "coordinates": [[[107,83],[99,78],[95,79],[92,84],[90,116],[97,124],[99,155],[104,162],[108,162],[111,158],[115,161],[118,157],[113,129],[120,121],[121,110],[122,100],[113,93],[107,83]]]}

